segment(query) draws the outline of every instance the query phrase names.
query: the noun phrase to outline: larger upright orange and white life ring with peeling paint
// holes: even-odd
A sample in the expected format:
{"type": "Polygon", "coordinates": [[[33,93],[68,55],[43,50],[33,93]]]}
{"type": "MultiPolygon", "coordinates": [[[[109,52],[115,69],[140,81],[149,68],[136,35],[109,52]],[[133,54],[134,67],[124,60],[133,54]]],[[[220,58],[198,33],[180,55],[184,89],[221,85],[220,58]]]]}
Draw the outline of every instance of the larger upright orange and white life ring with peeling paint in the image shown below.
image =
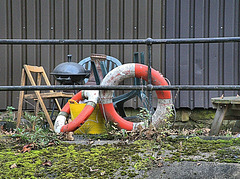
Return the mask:
{"type": "MultiPolygon", "coordinates": [[[[153,85],[168,85],[167,81],[158,71],[151,69],[152,84],[153,85]]],[[[129,63],[121,65],[110,71],[103,79],[101,85],[118,85],[121,81],[127,78],[142,78],[148,80],[148,66],[129,63]]],[[[156,91],[158,104],[155,113],[152,116],[152,124],[158,127],[159,121],[163,120],[167,113],[168,106],[172,105],[171,92],[169,90],[157,90],[156,91]]],[[[115,110],[112,102],[113,91],[101,90],[101,110],[107,120],[111,120],[118,124],[118,127],[126,130],[135,130],[138,125],[142,123],[133,123],[123,119],[115,110]]]]}

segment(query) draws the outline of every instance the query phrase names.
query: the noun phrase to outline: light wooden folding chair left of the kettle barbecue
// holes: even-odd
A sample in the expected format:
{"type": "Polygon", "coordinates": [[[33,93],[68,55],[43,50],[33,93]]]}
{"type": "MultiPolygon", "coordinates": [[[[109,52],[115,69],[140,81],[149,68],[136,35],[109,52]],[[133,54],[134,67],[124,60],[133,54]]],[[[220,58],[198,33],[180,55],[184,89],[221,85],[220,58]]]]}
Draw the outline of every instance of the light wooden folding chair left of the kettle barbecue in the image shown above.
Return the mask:
{"type": "MultiPolygon", "coordinates": [[[[42,66],[31,66],[31,65],[24,65],[22,69],[22,76],[21,76],[21,86],[26,85],[26,77],[29,79],[30,84],[32,86],[40,86],[40,85],[51,85],[50,81],[46,75],[46,72],[42,66]],[[33,78],[33,73],[36,74],[36,81],[33,78]],[[43,83],[42,84],[42,77],[43,77],[43,83]]],[[[18,103],[18,114],[17,114],[17,127],[19,127],[21,122],[21,116],[22,116],[22,107],[23,107],[23,100],[24,99],[33,99],[36,101],[35,106],[35,115],[40,110],[40,106],[45,114],[45,117],[49,123],[49,126],[51,129],[53,129],[53,123],[49,116],[49,113],[47,111],[47,108],[44,104],[43,99],[54,99],[54,102],[57,105],[57,108],[59,111],[61,111],[61,106],[58,102],[57,98],[71,98],[73,97],[74,93],[65,93],[65,92],[54,92],[53,90],[50,90],[49,92],[41,93],[40,91],[36,90],[32,94],[24,94],[24,91],[20,91],[19,94],[19,103],[18,103]]]]}

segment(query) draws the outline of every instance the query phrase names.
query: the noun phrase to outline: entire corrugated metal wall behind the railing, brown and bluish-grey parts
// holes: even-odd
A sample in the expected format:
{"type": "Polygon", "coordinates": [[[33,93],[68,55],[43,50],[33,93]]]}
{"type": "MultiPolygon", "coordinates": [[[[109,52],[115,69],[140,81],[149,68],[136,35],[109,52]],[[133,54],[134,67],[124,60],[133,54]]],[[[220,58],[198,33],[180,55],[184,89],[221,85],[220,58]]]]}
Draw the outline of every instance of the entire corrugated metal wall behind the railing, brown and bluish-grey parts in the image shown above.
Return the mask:
{"type": "MultiPolygon", "coordinates": [[[[1,0],[0,38],[142,39],[239,36],[239,0],[1,0]]],[[[172,84],[239,84],[239,43],[154,45],[153,67],[172,84]]],[[[72,54],[105,53],[123,63],[145,45],[1,45],[0,85],[20,85],[23,64],[50,72],[72,54]]],[[[0,109],[18,92],[0,92],[0,109]]],[[[177,107],[211,106],[222,92],[173,93],[177,107]]],[[[225,93],[232,95],[232,92],[225,93]]],[[[235,93],[234,93],[235,94],[235,93]]],[[[136,106],[137,102],[131,102],[136,106]]]]}

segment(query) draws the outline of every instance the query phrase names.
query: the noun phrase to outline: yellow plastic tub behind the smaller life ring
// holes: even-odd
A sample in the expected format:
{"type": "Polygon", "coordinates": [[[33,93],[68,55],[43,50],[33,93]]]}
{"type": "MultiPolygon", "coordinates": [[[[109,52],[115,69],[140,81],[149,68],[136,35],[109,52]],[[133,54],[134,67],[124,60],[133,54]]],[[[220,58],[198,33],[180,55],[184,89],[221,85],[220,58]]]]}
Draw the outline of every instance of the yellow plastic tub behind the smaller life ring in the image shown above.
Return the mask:
{"type": "MultiPolygon", "coordinates": [[[[68,102],[70,106],[71,118],[74,120],[80,114],[86,104],[79,104],[72,99],[70,99],[68,102]]],[[[97,104],[87,121],[77,130],[75,130],[74,134],[102,134],[104,132],[106,132],[105,120],[102,116],[99,105],[97,104]]]]}

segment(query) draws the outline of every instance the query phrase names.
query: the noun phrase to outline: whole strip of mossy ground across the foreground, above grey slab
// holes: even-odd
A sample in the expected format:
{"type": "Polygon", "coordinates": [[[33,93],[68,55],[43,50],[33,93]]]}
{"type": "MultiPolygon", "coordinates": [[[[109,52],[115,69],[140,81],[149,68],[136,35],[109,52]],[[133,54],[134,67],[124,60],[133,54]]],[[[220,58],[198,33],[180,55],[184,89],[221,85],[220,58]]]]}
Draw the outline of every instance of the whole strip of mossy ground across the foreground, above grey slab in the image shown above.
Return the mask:
{"type": "Polygon", "coordinates": [[[1,137],[0,178],[133,178],[146,177],[161,163],[215,161],[240,163],[240,139],[162,138],[118,144],[61,144],[20,153],[14,140],[1,137]],[[8,141],[8,142],[7,142],[8,141]],[[50,164],[44,165],[48,161],[50,164]],[[16,164],[15,167],[13,164],[16,164]]]}

